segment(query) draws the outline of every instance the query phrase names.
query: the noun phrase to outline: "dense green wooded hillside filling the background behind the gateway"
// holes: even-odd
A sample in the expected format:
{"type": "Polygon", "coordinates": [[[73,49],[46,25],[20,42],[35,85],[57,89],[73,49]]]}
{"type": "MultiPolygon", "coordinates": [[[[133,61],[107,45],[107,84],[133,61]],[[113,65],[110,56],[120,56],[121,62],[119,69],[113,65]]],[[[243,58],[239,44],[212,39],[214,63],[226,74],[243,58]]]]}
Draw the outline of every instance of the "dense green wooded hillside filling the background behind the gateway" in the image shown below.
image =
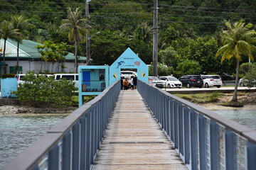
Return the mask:
{"type": "MultiPolygon", "coordinates": [[[[112,64],[130,47],[146,63],[152,62],[153,0],[90,1],[90,50],[92,64],[112,64]],[[97,34],[96,34],[97,33],[97,34]]],[[[0,22],[18,15],[35,27],[26,34],[28,40],[56,44],[67,43],[74,53],[68,32],[60,31],[67,8],[80,7],[85,16],[85,1],[0,0],[0,22]]],[[[179,64],[196,64],[193,74],[235,73],[235,60],[220,62],[215,57],[224,22],[243,20],[254,24],[256,1],[245,0],[159,0],[159,62],[171,67],[169,74],[183,74],[179,64]],[[193,62],[191,62],[193,61],[193,62]]],[[[78,56],[86,55],[85,42],[78,45],[78,56]]],[[[1,47],[0,47],[1,48],[1,47]]],[[[247,57],[242,57],[247,62],[247,57]]],[[[161,75],[160,75],[161,76],[161,75]]]]}

